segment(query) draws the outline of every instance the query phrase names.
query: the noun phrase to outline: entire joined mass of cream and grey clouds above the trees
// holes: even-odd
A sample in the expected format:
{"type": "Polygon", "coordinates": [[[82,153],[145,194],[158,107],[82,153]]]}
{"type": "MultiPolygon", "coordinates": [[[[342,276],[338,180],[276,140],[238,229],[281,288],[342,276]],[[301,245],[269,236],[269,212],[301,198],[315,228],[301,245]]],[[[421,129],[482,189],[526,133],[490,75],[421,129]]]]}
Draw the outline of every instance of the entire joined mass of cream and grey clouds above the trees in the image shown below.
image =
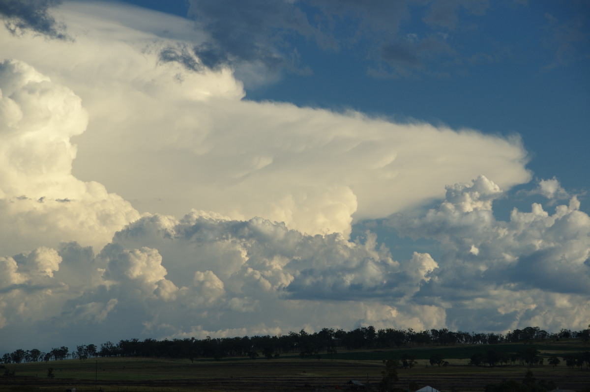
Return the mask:
{"type": "Polygon", "coordinates": [[[55,12],[75,41],[0,32],[2,54],[19,59],[0,65],[10,344],[497,331],[569,316],[585,327],[590,219],[578,200],[494,218],[502,189],[530,177],[516,137],[244,100],[229,68],[162,60],[207,39],[176,28],[184,19],[102,2],[55,12]],[[445,186],[437,208],[390,220],[441,256],[398,259],[372,233],[349,241],[353,219],[388,218],[445,186]]]}

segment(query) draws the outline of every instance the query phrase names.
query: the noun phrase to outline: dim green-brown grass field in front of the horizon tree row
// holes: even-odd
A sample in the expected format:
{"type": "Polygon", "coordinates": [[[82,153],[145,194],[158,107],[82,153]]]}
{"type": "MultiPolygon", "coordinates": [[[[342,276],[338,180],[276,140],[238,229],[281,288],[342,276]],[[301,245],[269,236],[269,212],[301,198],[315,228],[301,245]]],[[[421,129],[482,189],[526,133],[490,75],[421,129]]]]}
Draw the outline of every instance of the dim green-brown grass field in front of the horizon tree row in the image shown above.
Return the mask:
{"type": "MultiPolygon", "coordinates": [[[[37,363],[8,364],[14,377],[0,377],[0,391],[65,391],[76,387],[87,391],[309,391],[342,388],[349,380],[369,381],[372,390],[381,380],[383,360],[412,354],[418,364],[411,369],[398,369],[400,381],[395,387],[407,389],[415,381],[420,387],[430,385],[442,391],[483,391],[486,384],[501,380],[522,381],[529,368],[520,365],[499,367],[469,366],[469,357],[487,350],[515,353],[535,347],[542,355],[558,355],[590,350],[588,344],[576,340],[539,342],[538,344],[461,345],[454,347],[415,347],[399,350],[348,351],[322,358],[300,358],[283,355],[266,360],[224,358],[171,360],[158,358],[91,358],[37,363]],[[446,367],[432,367],[428,358],[440,353],[449,362],[446,367]],[[47,378],[48,368],[55,378],[47,378]]],[[[545,361],[547,363],[547,361],[545,361]]],[[[530,368],[537,380],[554,381],[560,388],[584,391],[590,387],[590,371],[537,365],[530,368]]],[[[4,371],[4,370],[3,370],[4,371]]]]}

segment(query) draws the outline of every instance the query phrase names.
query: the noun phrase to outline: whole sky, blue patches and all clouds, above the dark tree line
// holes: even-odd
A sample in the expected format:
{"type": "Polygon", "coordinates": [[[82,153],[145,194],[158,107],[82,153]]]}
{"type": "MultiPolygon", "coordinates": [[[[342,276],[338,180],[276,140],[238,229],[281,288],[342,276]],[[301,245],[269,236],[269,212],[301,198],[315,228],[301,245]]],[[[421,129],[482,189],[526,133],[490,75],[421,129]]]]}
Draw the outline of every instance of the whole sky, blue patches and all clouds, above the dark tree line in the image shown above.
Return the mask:
{"type": "Polygon", "coordinates": [[[588,327],[590,2],[0,17],[0,353],[588,327]]]}

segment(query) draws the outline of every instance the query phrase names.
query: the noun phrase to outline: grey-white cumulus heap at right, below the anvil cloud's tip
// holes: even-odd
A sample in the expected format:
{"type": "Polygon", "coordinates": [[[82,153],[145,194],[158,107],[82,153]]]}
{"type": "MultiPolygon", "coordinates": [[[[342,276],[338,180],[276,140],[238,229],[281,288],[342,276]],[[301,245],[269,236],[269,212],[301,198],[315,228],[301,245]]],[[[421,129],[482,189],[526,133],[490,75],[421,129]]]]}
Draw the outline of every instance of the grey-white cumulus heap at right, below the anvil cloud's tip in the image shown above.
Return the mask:
{"type": "Polygon", "coordinates": [[[503,330],[545,317],[542,325],[560,328],[564,312],[588,311],[582,298],[590,287],[590,217],[572,197],[555,213],[533,203],[530,212],[513,209],[510,220],[501,221],[491,210],[501,195],[480,176],[471,185],[447,187],[447,198],[424,216],[396,215],[389,223],[439,243],[439,268],[420,295],[447,304],[448,325],[503,330]],[[558,298],[569,305],[558,309],[558,298]]]}

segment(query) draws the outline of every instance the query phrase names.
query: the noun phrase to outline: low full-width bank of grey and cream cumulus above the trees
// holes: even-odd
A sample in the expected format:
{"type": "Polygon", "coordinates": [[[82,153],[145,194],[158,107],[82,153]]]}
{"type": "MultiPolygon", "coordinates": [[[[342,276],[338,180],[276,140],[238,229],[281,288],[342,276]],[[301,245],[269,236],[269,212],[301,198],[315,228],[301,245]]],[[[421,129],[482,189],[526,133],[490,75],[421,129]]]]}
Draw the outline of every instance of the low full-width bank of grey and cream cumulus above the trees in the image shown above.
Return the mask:
{"type": "Polygon", "coordinates": [[[371,232],[351,242],[261,218],[144,216],[96,256],[68,242],[0,259],[0,315],[8,333],[29,320],[27,331],[41,338],[68,331],[105,341],[326,325],[585,327],[590,217],[574,197],[552,214],[541,205],[514,209],[504,222],[490,202],[502,195],[480,176],[448,186],[447,199],[424,216],[391,218],[400,233],[439,242],[436,260],[418,252],[396,260],[371,232]],[[33,298],[38,306],[22,308],[33,298]]]}

